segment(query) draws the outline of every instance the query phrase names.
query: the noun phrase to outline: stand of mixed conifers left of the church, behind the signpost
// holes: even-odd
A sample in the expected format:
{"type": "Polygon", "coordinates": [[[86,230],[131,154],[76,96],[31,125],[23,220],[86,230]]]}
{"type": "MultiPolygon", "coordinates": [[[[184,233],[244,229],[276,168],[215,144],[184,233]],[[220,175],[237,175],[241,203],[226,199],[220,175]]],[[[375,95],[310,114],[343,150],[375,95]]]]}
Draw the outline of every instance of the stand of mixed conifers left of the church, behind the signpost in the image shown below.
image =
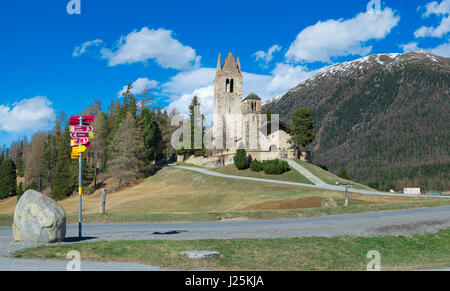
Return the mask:
{"type": "MultiPolygon", "coordinates": [[[[173,129],[170,116],[159,109],[147,108],[149,94],[139,100],[129,85],[122,102],[113,101],[103,111],[95,100],[83,112],[93,115],[95,137],[83,160],[84,187],[97,186],[98,175],[114,177],[120,185],[155,171],[155,161],[174,153],[170,146],[173,129]]],[[[71,112],[71,115],[77,115],[71,112]]],[[[20,195],[26,189],[46,191],[56,200],[70,196],[78,185],[78,160],[71,160],[68,116],[61,112],[49,132],[34,134],[31,141],[13,142],[0,151],[0,199],[20,195]],[[16,184],[17,176],[23,182],[16,184]]],[[[89,188],[87,188],[89,192],[89,188]]]]}

